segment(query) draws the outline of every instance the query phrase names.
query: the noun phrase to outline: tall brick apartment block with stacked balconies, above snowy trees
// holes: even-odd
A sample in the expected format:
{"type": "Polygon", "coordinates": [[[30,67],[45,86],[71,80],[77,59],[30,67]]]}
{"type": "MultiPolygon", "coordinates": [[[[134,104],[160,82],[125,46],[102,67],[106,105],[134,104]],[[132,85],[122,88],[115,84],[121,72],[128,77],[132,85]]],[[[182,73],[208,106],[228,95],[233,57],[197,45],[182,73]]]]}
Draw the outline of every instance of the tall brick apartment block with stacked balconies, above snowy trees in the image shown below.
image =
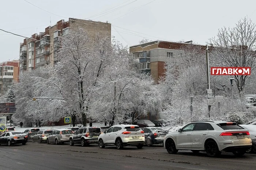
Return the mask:
{"type": "Polygon", "coordinates": [[[42,69],[45,64],[56,64],[56,53],[60,48],[56,46],[59,43],[59,37],[66,35],[69,29],[78,26],[88,32],[91,45],[93,45],[97,33],[108,36],[111,41],[110,23],[74,18],[69,18],[68,21],[60,20],[55,25],[45,28],[44,32],[33,34],[31,36],[33,39],[27,38],[20,43],[19,73],[22,74],[26,70],[42,69]]]}

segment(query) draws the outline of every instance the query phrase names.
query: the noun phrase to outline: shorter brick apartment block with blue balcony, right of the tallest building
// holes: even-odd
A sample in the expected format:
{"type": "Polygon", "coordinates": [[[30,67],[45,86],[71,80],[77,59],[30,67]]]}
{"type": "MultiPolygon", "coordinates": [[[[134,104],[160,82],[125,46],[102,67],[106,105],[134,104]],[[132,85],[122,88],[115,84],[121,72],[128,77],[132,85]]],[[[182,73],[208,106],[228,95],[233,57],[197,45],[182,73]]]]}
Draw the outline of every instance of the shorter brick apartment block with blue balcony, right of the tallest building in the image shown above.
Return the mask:
{"type": "MultiPolygon", "coordinates": [[[[182,47],[191,45],[188,42],[172,42],[172,41],[151,41],[148,43],[138,44],[129,48],[130,54],[138,58],[140,62],[140,70],[148,72],[152,75],[157,83],[161,76],[165,73],[165,62],[168,58],[182,54],[182,47]]],[[[205,48],[201,45],[196,45],[205,48]]]]}

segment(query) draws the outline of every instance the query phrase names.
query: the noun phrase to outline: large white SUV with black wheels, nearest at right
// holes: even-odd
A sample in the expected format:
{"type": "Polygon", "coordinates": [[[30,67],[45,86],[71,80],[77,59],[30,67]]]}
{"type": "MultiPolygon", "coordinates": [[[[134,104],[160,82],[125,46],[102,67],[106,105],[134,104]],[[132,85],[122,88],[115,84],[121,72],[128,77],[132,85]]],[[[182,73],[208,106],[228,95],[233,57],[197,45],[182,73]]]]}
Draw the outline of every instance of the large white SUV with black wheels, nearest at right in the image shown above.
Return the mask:
{"type": "Polygon", "coordinates": [[[251,148],[249,131],[233,122],[196,121],[178,131],[170,132],[164,139],[164,147],[170,154],[178,150],[191,150],[194,153],[206,151],[216,157],[221,151],[240,156],[251,148]]]}

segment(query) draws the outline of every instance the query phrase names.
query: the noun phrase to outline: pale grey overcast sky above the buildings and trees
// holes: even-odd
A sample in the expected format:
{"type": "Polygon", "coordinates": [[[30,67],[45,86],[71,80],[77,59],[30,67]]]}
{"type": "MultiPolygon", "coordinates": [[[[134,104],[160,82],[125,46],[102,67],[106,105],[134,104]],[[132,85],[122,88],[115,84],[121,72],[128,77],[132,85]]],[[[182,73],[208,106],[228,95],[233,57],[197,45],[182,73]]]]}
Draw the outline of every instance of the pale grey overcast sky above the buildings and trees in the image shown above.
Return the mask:
{"type": "MultiPolygon", "coordinates": [[[[256,23],[254,0],[2,0],[0,7],[0,29],[19,35],[44,32],[69,17],[92,19],[111,23],[112,35],[125,46],[143,37],[206,44],[219,28],[245,16],[256,23]]],[[[0,31],[0,62],[19,59],[23,39],[0,31]]]]}

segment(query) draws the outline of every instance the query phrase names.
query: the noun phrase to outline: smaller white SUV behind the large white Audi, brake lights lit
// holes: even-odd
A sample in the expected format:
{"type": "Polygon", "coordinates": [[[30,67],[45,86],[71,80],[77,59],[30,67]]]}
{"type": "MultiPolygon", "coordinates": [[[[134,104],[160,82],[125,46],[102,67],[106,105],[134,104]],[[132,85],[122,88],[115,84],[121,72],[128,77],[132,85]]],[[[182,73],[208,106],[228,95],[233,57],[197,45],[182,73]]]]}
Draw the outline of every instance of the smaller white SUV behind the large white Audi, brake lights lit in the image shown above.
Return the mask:
{"type": "Polygon", "coordinates": [[[141,149],[145,141],[143,130],[133,124],[119,124],[110,127],[103,134],[99,135],[98,144],[100,148],[108,145],[116,145],[117,149],[124,146],[136,145],[141,149]]]}

